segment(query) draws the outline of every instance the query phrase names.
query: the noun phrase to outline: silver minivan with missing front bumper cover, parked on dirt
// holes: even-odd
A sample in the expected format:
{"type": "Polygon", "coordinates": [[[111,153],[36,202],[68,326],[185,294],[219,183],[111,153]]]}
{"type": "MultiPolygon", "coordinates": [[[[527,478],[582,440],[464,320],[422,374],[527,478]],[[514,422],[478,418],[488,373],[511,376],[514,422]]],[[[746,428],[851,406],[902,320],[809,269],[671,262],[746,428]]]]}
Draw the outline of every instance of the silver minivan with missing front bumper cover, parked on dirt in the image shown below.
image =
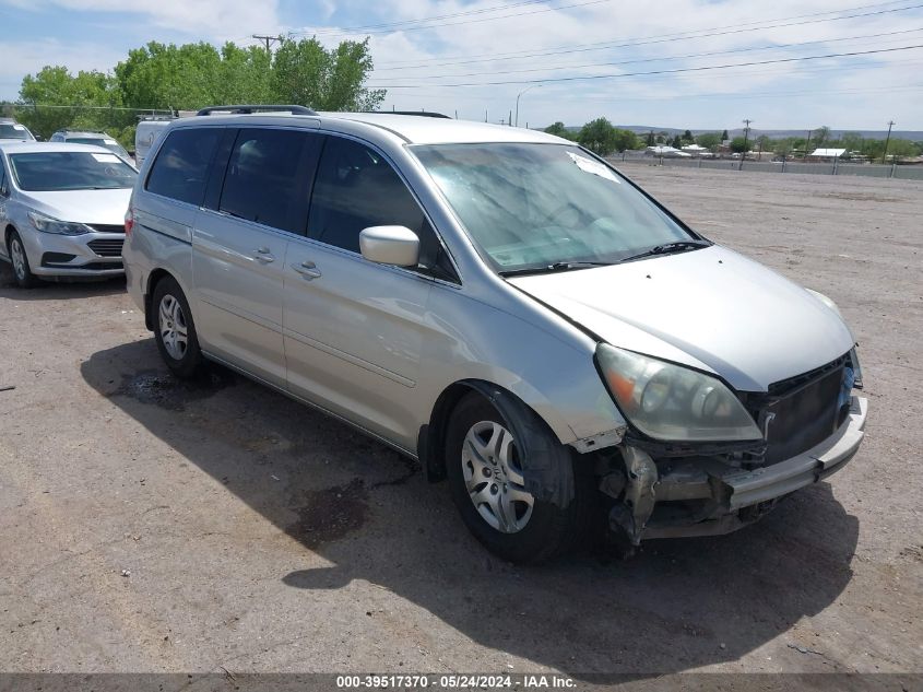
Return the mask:
{"type": "Polygon", "coordinates": [[[735,530],[863,438],[829,298],[542,132],[186,118],[126,233],[176,375],[222,363],[418,459],[511,561],[735,530]]]}

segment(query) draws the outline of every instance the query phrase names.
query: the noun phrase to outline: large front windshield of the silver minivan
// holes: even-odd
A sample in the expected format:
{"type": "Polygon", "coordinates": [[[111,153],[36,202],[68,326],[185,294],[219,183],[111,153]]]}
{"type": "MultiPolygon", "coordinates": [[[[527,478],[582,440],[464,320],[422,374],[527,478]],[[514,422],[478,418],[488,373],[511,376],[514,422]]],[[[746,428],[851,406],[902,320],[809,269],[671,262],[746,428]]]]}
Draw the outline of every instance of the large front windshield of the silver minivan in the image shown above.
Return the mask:
{"type": "Polygon", "coordinates": [[[577,146],[414,146],[500,273],[613,263],[694,239],[612,168],[577,146]]]}

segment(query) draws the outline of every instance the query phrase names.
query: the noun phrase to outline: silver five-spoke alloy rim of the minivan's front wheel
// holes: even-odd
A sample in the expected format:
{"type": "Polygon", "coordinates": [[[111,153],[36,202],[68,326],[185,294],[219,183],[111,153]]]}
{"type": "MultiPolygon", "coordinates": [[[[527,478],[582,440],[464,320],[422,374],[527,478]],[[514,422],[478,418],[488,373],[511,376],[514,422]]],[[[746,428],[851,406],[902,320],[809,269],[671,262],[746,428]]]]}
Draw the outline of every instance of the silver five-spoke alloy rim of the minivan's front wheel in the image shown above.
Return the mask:
{"type": "Polygon", "coordinates": [[[461,456],[464,483],[481,517],[501,533],[524,529],[534,499],[525,490],[512,434],[494,421],[475,423],[461,456]]]}

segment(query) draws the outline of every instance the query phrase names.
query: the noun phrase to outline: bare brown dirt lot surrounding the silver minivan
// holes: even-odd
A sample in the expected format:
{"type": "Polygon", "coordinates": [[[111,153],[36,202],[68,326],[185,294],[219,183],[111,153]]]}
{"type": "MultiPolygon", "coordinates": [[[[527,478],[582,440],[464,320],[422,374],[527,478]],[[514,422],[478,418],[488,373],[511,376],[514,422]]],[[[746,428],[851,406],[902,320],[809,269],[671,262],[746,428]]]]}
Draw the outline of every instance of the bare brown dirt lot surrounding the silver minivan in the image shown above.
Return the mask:
{"type": "Polygon", "coordinates": [[[445,484],[226,371],[171,379],[123,282],[0,269],[0,670],[923,672],[923,184],[626,166],[831,296],[864,446],[723,538],[521,568],[445,484]]]}

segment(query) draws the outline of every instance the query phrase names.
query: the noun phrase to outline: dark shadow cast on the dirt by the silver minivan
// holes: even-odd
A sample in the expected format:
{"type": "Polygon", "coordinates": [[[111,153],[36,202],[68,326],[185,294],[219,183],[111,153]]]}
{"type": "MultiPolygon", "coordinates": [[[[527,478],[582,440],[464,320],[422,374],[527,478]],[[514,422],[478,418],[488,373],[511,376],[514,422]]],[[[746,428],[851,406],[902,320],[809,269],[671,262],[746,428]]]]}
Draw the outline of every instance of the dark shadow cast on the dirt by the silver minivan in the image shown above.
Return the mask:
{"type": "Polygon", "coordinates": [[[366,579],[481,645],[576,677],[736,660],[828,607],[852,575],[859,524],[826,483],[727,537],[652,542],[626,562],[516,567],[469,536],[445,485],[415,465],[227,371],[178,383],[146,340],[94,354],[82,374],[335,565],[279,574],[289,587],[366,579]],[[286,484],[282,502],[268,464],[286,484]]]}

